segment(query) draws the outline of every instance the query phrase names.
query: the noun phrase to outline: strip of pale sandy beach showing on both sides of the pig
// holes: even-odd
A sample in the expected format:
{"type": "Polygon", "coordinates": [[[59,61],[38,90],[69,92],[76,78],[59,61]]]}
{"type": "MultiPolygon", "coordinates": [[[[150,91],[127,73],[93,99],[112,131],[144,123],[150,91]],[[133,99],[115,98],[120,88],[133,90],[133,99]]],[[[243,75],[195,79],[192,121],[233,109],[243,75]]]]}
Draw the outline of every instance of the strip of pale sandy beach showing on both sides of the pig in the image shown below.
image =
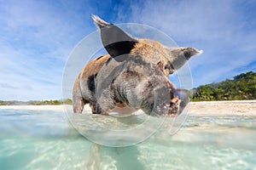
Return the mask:
{"type": "MultiPolygon", "coordinates": [[[[256,100],[203,101],[190,102],[191,116],[256,116],[256,100]]],[[[0,105],[0,109],[18,109],[30,111],[72,111],[72,105],[0,105]]],[[[90,112],[89,105],[84,111],[90,112]]]]}

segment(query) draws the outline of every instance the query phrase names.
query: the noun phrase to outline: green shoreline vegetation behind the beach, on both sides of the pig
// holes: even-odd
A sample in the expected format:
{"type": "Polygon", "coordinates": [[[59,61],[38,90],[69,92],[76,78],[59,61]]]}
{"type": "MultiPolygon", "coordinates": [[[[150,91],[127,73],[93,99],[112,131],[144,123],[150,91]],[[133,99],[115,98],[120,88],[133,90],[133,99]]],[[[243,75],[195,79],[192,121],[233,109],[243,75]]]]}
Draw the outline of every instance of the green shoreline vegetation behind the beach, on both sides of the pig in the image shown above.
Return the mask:
{"type": "MultiPolygon", "coordinates": [[[[188,91],[192,101],[244,100],[256,99],[256,73],[241,73],[223,82],[212,82],[188,91]]],[[[0,105],[73,105],[72,99],[1,101],[0,105]]]]}

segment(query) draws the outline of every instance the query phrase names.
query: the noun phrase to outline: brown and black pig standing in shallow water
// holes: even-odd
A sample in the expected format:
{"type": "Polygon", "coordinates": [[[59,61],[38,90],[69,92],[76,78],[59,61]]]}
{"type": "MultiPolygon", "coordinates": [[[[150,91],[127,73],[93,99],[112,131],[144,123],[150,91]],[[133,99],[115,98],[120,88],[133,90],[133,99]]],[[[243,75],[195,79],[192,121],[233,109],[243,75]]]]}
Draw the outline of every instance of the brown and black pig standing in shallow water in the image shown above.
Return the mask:
{"type": "Polygon", "coordinates": [[[73,85],[73,112],[89,104],[92,113],[150,116],[180,114],[181,99],[169,75],[181,68],[196,48],[165,47],[151,39],[131,37],[118,26],[92,15],[108,54],[91,60],[73,85]]]}

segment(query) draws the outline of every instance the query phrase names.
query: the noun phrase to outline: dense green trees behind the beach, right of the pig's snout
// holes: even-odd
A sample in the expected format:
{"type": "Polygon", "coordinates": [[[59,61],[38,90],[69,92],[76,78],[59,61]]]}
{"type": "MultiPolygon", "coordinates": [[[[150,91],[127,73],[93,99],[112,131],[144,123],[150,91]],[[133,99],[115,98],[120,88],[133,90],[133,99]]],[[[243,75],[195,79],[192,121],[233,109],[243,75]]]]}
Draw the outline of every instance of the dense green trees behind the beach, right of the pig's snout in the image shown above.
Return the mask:
{"type": "Polygon", "coordinates": [[[242,73],[233,80],[194,88],[192,101],[256,99],[256,73],[242,73]]]}

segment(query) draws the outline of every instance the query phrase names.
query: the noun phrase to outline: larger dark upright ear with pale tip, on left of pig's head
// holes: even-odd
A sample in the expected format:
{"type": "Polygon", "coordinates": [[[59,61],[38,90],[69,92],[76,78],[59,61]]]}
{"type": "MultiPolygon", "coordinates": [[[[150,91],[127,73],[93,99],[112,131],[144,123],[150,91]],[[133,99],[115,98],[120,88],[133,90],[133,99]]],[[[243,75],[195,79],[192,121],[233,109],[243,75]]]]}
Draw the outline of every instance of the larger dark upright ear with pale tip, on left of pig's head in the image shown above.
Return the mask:
{"type": "Polygon", "coordinates": [[[120,55],[129,54],[137,40],[96,15],[91,16],[96,26],[101,30],[102,44],[113,58],[120,59],[120,55]]]}

